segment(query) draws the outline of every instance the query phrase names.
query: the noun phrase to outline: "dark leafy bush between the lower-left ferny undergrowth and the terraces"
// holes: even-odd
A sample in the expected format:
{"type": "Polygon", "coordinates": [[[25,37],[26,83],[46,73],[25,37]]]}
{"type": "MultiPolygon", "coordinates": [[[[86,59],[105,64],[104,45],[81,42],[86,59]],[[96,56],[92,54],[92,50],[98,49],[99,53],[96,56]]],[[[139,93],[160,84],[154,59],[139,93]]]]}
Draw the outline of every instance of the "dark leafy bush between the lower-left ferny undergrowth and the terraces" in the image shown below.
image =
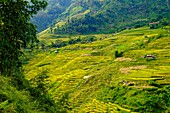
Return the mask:
{"type": "Polygon", "coordinates": [[[30,83],[29,91],[33,99],[36,100],[37,107],[44,112],[57,112],[59,108],[48,93],[50,81],[48,81],[47,71],[43,71],[35,78],[32,78],[30,83]]]}

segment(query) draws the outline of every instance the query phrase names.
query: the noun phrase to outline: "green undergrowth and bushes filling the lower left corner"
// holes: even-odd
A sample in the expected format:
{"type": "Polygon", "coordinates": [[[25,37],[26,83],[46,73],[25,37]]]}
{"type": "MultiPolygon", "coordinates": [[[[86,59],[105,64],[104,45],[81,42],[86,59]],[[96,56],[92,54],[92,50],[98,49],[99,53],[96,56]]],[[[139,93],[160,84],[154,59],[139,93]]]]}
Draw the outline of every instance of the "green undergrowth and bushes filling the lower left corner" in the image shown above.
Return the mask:
{"type": "MultiPolygon", "coordinates": [[[[30,84],[27,81],[27,84],[18,83],[15,86],[16,80],[11,81],[9,77],[0,76],[0,112],[63,112],[64,109],[60,109],[62,101],[56,103],[48,93],[50,81],[47,81],[47,78],[46,71],[44,71],[33,78],[30,84]]],[[[19,81],[24,82],[23,79],[19,81]]]]}

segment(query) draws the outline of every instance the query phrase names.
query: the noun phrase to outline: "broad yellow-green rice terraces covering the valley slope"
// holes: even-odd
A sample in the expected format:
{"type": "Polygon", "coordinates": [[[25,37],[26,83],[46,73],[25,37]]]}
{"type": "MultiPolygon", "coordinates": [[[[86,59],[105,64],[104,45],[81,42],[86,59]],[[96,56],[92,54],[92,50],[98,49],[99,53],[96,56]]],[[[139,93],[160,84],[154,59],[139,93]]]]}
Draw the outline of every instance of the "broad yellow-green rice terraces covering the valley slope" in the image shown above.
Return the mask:
{"type": "Polygon", "coordinates": [[[45,72],[49,93],[70,113],[169,113],[170,26],[113,34],[39,34],[28,80],[45,72]]]}

